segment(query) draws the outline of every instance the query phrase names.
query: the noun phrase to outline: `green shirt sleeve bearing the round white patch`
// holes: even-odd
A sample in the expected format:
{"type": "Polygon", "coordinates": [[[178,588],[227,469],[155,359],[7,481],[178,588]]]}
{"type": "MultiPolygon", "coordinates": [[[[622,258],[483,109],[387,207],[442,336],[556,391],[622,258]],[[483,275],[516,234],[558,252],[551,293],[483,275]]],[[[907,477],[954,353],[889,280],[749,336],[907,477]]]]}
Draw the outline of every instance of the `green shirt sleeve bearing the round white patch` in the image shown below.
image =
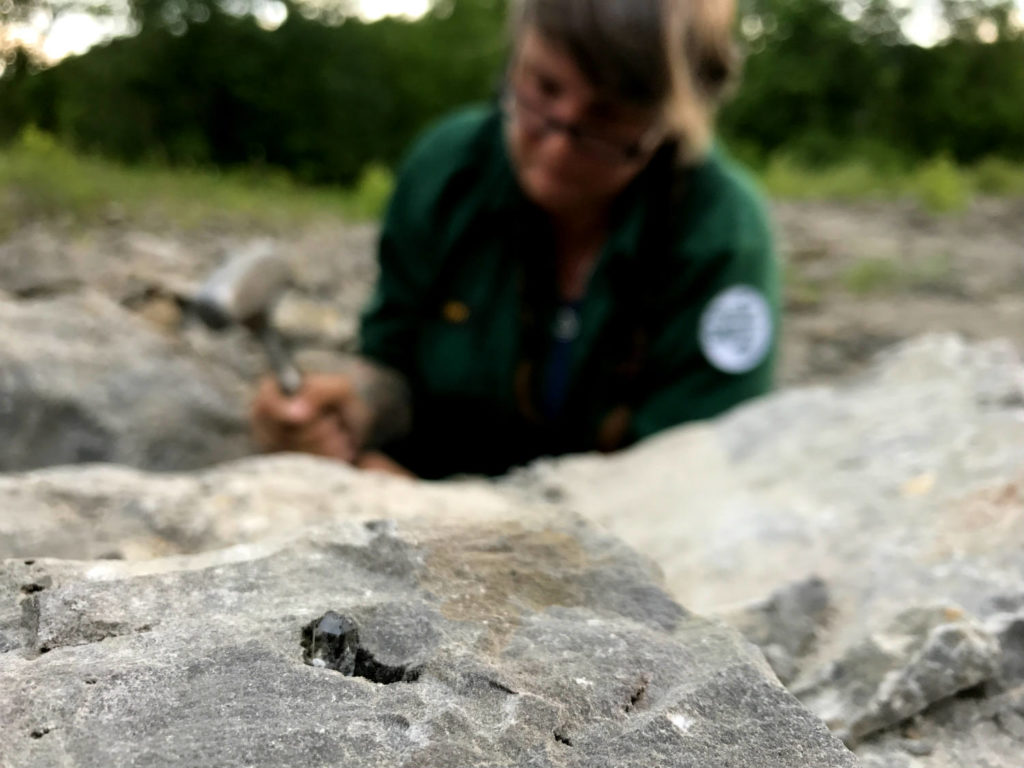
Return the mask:
{"type": "Polygon", "coordinates": [[[668,317],[651,339],[647,394],[631,436],[709,419],[772,387],[779,275],[771,228],[753,187],[733,180],[676,244],[668,317]]]}

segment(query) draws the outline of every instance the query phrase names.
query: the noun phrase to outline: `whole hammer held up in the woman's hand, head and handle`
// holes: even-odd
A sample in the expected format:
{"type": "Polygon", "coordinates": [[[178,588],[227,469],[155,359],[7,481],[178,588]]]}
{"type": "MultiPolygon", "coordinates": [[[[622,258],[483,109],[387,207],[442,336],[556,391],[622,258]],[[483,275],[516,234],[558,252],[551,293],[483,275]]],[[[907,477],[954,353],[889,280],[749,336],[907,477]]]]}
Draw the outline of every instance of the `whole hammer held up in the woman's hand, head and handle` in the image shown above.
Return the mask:
{"type": "Polygon", "coordinates": [[[260,340],[286,395],[299,391],[302,374],[270,318],[291,280],[288,262],[269,242],[258,241],[228,257],[193,299],[193,309],[208,328],[244,326],[260,340]]]}

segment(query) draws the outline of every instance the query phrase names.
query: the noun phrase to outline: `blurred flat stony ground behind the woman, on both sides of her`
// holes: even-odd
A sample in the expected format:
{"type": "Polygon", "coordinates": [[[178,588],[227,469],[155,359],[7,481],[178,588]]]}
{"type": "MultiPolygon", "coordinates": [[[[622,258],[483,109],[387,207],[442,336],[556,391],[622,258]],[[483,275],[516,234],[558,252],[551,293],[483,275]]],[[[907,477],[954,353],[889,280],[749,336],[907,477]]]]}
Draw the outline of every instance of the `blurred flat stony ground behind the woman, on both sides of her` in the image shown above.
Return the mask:
{"type": "MultiPolygon", "coordinates": [[[[1005,337],[1024,349],[1024,200],[980,200],[945,215],[910,202],[782,202],[774,216],[787,286],[781,384],[834,380],[923,333],[1005,337]]],[[[27,225],[0,243],[0,291],[39,298],[90,286],[176,334],[181,317],[168,297],[251,237],[180,237],[117,221],[86,230],[27,225]]],[[[375,237],[373,225],[338,223],[275,239],[297,278],[279,319],[298,342],[351,343],[375,273],[375,237]]],[[[233,362],[248,374],[257,360],[233,362]]]]}

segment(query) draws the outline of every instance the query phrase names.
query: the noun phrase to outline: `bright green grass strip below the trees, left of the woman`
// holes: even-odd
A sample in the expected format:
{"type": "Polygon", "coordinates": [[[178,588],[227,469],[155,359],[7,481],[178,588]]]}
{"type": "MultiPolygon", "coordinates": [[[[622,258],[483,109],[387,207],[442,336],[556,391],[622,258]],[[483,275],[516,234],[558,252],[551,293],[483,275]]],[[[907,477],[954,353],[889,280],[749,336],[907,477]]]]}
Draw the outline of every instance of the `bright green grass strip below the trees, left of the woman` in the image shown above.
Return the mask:
{"type": "Polygon", "coordinates": [[[29,130],[0,150],[0,234],[31,218],[280,232],[329,218],[377,218],[390,189],[390,172],[380,167],[368,168],[351,189],[308,187],[270,171],[119,165],[77,155],[29,130]]]}

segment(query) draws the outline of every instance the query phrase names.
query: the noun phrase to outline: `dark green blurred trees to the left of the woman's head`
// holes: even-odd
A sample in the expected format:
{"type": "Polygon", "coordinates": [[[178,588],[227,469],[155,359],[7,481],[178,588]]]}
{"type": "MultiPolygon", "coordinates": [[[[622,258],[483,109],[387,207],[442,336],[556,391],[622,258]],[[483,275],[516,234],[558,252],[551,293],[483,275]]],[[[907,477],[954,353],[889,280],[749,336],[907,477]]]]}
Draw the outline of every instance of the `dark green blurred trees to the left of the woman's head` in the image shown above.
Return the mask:
{"type": "Polygon", "coordinates": [[[328,25],[290,4],[273,32],[204,0],[134,8],[135,37],[5,74],[0,102],[19,109],[0,109],[0,139],[34,123],[132,163],[264,165],[349,184],[370,163],[393,166],[441,113],[487,98],[504,56],[504,0],[464,0],[415,24],[328,25]]]}

